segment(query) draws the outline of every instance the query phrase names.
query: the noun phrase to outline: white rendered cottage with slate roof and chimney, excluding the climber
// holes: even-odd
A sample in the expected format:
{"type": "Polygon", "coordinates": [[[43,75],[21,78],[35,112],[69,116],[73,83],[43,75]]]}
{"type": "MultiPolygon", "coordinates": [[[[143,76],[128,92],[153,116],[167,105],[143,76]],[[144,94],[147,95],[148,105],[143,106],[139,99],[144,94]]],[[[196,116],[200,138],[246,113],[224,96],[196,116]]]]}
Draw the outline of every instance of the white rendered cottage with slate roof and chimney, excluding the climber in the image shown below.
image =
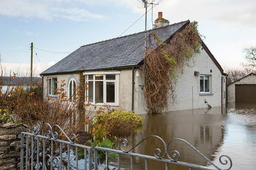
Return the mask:
{"type": "MultiPolygon", "coordinates": [[[[169,25],[160,14],[157,28],[148,30],[147,35],[156,33],[162,41],[168,42],[183,30],[188,21],[169,25]]],[[[81,46],[61,61],[45,70],[43,76],[44,98],[55,97],[55,88],[63,87],[69,96],[76,87],[85,86],[85,101],[102,107],[147,113],[143,96],[143,78],[139,67],[144,57],[144,32],[100,41],[81,46]]],[[[169,111],[221,106],[226,103],[226,74],[210,50],[202,43],[201,53],[194,56],[189,66],[179,75],[175,88],[176,101],[170,101],[169,111]]]]}

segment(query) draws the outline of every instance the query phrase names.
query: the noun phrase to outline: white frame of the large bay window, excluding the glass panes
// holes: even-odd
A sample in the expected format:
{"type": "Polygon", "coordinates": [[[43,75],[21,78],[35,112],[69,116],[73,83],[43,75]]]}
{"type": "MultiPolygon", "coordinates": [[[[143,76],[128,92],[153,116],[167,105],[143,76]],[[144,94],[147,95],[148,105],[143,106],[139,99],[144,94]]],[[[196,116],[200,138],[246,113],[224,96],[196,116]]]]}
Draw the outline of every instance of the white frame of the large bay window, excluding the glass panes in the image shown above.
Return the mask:
{"type": "MultiPolygon", "coordinates": [[[[119,106],[119,71],[109,71],[109,72],[84,72],[86,76],[85,83],[88,81],[93,81],[93,102],[92,105],[109,105],[109,106],[119,106]],[[103,74],[103,80],[95,80],[95,74],[103,74]],[[115,74],[115,80],[106,80],[106,74],[115,74]],[[93,80],[89,80],[89,75],[93,75],[93,80]],[[103,103],[95,104],[95,81],[103,82],[103,103]],[[115,82],[115,103],[107,103],[107,82],[115,82]]],[[[89,94],[89,89],[86,89],[86,94],[89,94]]],[[[85,96],[85,102],[88,103],[88,97],[85,96]]]]}

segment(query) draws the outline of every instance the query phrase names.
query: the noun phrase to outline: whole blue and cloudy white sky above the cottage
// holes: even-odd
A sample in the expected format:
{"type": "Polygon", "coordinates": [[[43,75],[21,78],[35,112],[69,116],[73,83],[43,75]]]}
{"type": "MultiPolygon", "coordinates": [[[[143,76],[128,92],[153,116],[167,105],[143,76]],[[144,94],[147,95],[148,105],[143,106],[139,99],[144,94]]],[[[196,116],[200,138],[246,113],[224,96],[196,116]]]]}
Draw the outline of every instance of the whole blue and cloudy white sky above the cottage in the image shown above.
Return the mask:
{"type": "MultiPolygon", "coordinates": [[[[80,46],[121,35],[145,13],[145,8],[140,8],[140,2],[141,0],[1,0],[2,68],[6,73],[28,75],[30,43],[33,42],[33,70],[34,75],[39,76],[43,70],[80,46]]],[[[205,44],[223,69],[241,69],[241,63],[246,62],[243,49],[256,46],[255,0],[153,2],[159,2],[153,7],[153,21],[159,11],[163,12],[163,18],[170,23],[188,19],[197,21],[199,32],[205,36],[205,44]]],[[[147,24],[148,29],[151,29],[151,11],[148,12],[147,24]]],[[[142,17],[123,36],[144,29],[145,18],[142,17]]]]}

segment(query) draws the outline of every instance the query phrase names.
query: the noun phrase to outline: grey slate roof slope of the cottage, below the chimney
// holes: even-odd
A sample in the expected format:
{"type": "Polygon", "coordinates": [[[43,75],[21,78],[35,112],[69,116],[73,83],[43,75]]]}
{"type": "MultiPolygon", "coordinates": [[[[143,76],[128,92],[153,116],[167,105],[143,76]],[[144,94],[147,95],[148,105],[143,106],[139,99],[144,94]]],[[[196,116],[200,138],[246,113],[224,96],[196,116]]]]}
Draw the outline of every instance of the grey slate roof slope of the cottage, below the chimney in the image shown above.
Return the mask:
{"type": "MultiPolygon", "coordinates": [[[[162,41],[167,41],[187,23],[189,20],[148,30],[147,35],[155,32],[162,41]]],[[[136,66],[143,60],[144,48],[144,32],[84,45],[45,70],[41,75],[136,66]]]]}

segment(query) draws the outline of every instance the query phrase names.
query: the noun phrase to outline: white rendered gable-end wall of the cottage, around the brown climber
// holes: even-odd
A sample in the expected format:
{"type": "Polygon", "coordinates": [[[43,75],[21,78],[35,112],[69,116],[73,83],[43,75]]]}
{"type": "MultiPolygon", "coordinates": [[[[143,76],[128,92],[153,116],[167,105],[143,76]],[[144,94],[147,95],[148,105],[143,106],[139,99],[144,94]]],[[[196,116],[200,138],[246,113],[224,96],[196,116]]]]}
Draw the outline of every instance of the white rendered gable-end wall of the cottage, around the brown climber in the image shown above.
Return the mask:
{"type": "MultiPolygon", "coordinates": [[[[188,66],[185,66],[183,73],[179,74],[177,86],[175,88],[175,100],[169,101],[169,109],[167,111],[180,111],[195,108],[207,108],[207,104],[212,107],[221,106],[221,77],[225,80],[223,84],[223,91],[226,91],[226,76],[222,75],[218,67],[212,61],[210,56],[201,50],[200,54],[196,54],[188,66]],[[212,72],[210,71],[212,70],[212,72]],[[198,71],[200,74],[211,75],[211,95],[201,96],[200,94],[200,80],[199,76],[195,76],[194,72],[198,71]],[[205,103],[205,101],[207,103],[205,103]]],[[[141,75],[135,79],[137,94],[135,112],[138,114],[146,114],[147,108],[145,98],[143,97],[141,85],[141,75]]],[[[225,97],[225,96],[223,96],[225,97]]],[[[222,100],[225,104],[225,99],[222,100]]]]}

